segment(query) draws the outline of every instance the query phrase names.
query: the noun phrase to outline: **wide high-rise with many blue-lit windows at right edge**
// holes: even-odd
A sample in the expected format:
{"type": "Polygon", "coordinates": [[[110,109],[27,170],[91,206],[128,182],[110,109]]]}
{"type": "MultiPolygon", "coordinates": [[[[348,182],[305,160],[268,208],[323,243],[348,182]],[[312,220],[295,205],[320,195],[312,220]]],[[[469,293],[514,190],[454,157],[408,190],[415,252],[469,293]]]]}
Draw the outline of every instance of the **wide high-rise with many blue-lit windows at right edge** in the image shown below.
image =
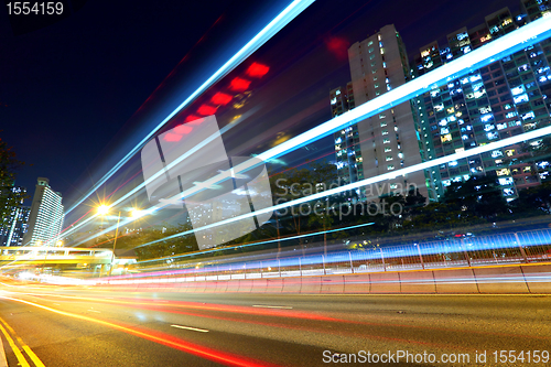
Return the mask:
{"type": "MultiPolygon", "coordinates": [[[[463,28],[447,35],[447,46],[433,42],[421,47],[415,57],[417,75],[483,47],[527,21],[538,19],[547,8],[533,10],[533,2],[522,1],[529,15],[511,14],[508,8],[485,18],[485,23],[463,28]],[[528,19],[527,19],[528,18],[528,19]]],[[[426,159],[435,159],[468,150],[493,141],[521,134],[550,123],[551,111],[551,46],[549,41],[527,47],[508,57],[464,76],[447,85],[433,88],[417,98],[421,138],[426,159]]],[[[472,175],[495,176],[507,199],[518,191],[548,180],[549,162],[530,159],[541,139],[504,149],[496,149],[468,159],[453,161],[432,169],[436,197],[452,182],[472,175]]]]}

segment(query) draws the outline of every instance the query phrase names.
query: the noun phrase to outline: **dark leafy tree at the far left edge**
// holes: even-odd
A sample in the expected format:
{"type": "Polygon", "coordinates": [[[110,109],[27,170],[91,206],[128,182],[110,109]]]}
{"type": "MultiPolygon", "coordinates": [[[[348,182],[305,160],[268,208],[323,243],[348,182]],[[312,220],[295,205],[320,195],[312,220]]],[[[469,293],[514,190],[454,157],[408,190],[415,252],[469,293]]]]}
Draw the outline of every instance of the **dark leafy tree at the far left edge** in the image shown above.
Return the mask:
{"type": "Polygon", "coordinates": [[[20,207],[26,193],[13,190],[17,170],[24,163],[17,159],[15,152],[0,138],[0,218],[7,220],[12,211],[20,207]]]}

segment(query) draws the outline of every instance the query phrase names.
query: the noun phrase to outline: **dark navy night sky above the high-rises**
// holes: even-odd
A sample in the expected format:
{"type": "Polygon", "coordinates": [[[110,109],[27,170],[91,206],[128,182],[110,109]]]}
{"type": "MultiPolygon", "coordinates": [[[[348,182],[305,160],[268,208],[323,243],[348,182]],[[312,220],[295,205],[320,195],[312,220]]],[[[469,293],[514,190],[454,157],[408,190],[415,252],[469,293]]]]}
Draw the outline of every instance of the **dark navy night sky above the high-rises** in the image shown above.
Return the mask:
{"type": "MultiPolygon", "coordinates": [[[[0,12],[0,137],[32,164],[17,184],[32,194],[46,176],[71,205],[287,3],[88,0],[17,36],[0,12]]],[[[239,111],[250,117],[225,137],[228,151],[258,153],[328,119],[328,90],[349,80],[346,48],[381,26],[393,23],[413,55],[506,6],[519,9],[503,0],[315,2],[227,77],[251,62],[270,67],[239,111]]],[[[226,125],[237,111],[219,115],[226,125]]],[[[332,149],[326,140],[287,163],[332,149]]]]}

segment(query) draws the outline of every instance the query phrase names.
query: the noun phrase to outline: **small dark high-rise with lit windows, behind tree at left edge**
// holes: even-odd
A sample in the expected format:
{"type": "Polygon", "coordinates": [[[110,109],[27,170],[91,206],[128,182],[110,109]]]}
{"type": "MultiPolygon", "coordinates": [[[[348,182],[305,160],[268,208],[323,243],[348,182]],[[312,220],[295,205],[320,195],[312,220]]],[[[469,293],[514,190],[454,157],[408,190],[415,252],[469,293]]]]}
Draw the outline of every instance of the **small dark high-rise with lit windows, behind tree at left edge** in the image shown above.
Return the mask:
{"type": "MultiPolygon", "coordinates": [[[[24,187],[14,186],[11,188],[10,194],[20,197],[25,192],[24,187]]],[[[22,201],[19,204],[22,204],[22,201]]],[[[8,215],[0,223],[0,246],[22,245],[23,235],[28,228],[30,211],[30,207],[21,205],[9,208],[8,215]]]]}

